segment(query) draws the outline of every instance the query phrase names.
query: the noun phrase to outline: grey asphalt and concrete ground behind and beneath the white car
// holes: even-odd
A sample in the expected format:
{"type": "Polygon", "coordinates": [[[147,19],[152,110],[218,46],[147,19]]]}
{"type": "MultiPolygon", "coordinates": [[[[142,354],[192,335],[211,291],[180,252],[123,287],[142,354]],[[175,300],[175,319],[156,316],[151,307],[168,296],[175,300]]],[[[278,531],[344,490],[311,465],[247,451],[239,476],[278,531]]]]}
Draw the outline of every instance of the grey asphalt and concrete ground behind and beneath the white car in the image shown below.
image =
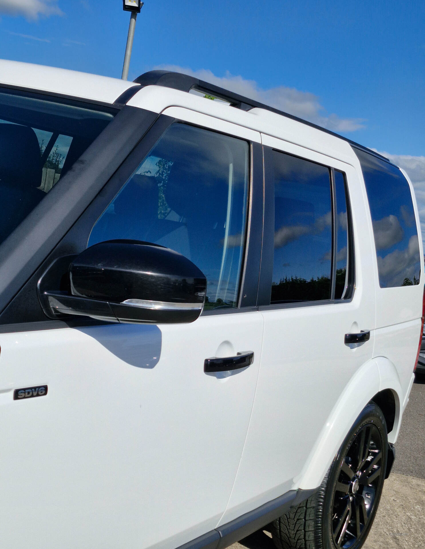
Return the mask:
{"type": "MultiPolygon", "coordinates": [[[[363,549],[425,549],[425,376],[413,384],[395,448],[393,470],[363,549]]],[[[275,546],[264,529],[230,548],[275,546]]]]}

